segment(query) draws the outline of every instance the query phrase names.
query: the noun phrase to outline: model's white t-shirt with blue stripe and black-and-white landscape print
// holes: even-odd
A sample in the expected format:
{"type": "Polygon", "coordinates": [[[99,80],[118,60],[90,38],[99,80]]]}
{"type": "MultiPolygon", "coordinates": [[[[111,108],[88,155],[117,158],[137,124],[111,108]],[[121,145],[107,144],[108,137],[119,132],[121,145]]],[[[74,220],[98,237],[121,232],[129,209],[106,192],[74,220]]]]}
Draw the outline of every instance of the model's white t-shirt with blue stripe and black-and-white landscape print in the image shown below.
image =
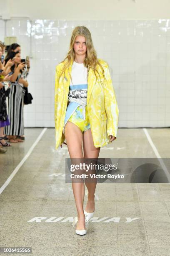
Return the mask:
{"type": "Polygon", "coordinates": [[[72,81],[70,79],[70,87],[68,101],[77,102],[81,105],[87,104],[87,68],[83,63],[73,61],[71,71],[72,81]]]}

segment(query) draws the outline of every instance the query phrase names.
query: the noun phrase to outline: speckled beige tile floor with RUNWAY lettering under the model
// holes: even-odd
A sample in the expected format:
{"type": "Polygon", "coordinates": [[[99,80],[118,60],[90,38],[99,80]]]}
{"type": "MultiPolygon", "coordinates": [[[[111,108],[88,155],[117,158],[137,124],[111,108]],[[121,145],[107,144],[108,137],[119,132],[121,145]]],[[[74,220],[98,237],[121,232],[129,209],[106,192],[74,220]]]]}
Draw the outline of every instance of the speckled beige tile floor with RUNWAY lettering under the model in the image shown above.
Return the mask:
{"type": "MultiPolygon", "coordinates": [[[[0,247],[32,247],[35,256],[170,255],[168,183],[97,184],[94,219],[85,236],[76,235],[72,186],[64,176],[67,146],[56,151],[55,130],[48,128],[24,159],[42,131],[26,128],[25,142],[0,154],[0,247]]],[[[170,158],[170,129],[146,131],[156,151],[144,129],[123,128],[99,157],[170,158]]]]}

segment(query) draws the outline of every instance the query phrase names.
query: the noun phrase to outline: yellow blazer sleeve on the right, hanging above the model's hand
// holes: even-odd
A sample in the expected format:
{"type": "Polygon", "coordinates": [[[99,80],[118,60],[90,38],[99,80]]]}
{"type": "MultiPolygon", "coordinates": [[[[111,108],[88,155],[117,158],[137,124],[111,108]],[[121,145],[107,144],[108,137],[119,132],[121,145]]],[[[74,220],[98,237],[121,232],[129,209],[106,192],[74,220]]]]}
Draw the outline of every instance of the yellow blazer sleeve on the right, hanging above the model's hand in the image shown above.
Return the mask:
{"type": "Polygon", "coordinates": [[[104,87],[105,94],[105,111],[107,114],[107,136],[117,137],[119,109],[115,97],[115,91],[112,85],[109,66],[105,68],[106,83],[104,87]]]}

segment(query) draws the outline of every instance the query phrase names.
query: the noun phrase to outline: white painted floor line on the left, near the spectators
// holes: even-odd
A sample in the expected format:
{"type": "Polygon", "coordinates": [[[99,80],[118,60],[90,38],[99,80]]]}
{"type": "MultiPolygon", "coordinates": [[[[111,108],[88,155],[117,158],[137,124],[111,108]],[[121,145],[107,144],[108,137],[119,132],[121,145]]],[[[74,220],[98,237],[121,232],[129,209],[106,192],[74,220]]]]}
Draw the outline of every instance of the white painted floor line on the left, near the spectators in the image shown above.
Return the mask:
{"type": "Polygon", "coordinates": [[[30,156],[32,150],[35,148],[35,146],[37,145],[37,143],[40,141],[40,139],[42,138],[43,134],[45,133],[45,131],[47,130],[47,128],[44,128],[42,130],[42,132],[40,133],[40,135],[38,136],[38,138],[36,139],[36,141],[32,144],[32,146],[30,147],[28,153],[24,156],[24,158],[20,161],[20,163],[18,164],[18,166],[13,170],[13,172],[10,174],[10,177],[8,177],[8,179],[5,181],[5,183],[2,185],[2,187],[0,188],[0,194],[3,192],[3,190],[5,189],[5,187],[7,187],[7,185],[10,183],[11,179],[13,179],[13,177],[15,176],[15,174],[18,172],[18,170],[20,169],[20,167],[24,164],[24,162],[28,159],[28,156],[30,156]]]}

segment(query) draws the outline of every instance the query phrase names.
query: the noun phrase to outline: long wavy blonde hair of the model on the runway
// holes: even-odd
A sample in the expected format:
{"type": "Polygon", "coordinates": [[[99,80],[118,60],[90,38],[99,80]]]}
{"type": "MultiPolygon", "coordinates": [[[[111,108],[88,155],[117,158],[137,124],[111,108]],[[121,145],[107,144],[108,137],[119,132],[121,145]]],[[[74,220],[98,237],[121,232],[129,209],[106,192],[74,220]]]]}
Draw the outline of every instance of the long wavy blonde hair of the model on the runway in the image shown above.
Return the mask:
{"type": "MultiPolygon", "coordinates": [[[[89,69],[92,68],[92,70],[95,74],[95,77],[96,77],[96,81],[97,81],[97,77],[98,76],[100,77],[100,74],[99,74],[99,72],[97,71],[97,68],[96,68],[97,65],[98,65],[101,68],[102,75],[105,79],[104,69],[103,69],[102,65],[100,64],[100,62],[97,59],[97,53],[96,53],[96,51],[94,49],[94,46],[93,46],[93,43],[92,43],[91,33],[88,30],[88,28],[86,28],[85,26],[77,26],[72,31],[69,51],[67,52],[67,56],[65,57],[65,59],[60,62],[60,63],[64,63],[64,66],[63,66],[62,71],[59,75],[59,79],[60,79],[60,77],[62,76],[63,73],[64,73],[64,77],[65,77],[65,70],[70,66],[71,62],[74,61],[74,59],[75,59],[74,43],[75,43],[76,36],[84,36],[85,40],[86,40],[87,51],[86,51],[86,57],[85,57],[83,63],[84,63],[84,66],[87,67],[87,77],[88,77],[89,69]],[[97,73],[97,76],[96,76],[96,73],[97,73]]],[[[69,73],[69,75],[70,75],[70,78],[71,78],[70,73],[69,73]]],[[[101,82],[101,80],[100,80],[100,82],[101,82]]]]}

